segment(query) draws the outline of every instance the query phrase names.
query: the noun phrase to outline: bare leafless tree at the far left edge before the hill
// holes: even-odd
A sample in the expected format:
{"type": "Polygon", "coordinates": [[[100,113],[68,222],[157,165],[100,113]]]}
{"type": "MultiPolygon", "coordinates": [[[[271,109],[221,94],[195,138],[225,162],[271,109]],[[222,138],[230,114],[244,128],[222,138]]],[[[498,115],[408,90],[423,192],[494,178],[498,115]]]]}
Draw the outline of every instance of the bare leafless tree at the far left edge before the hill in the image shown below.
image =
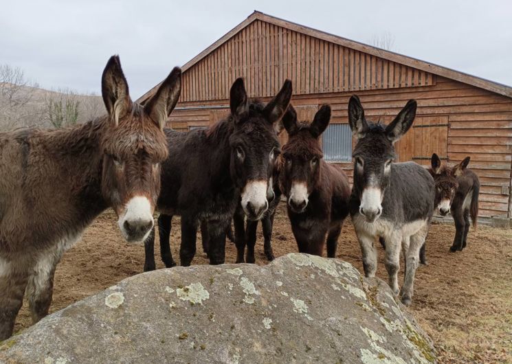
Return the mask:
{"type": "Polygon", "coordinates": [[[29,82],[19,67],[0,65],[0,129],[32,124],[40,111],[27,107],[37,84],[29,82]]]}

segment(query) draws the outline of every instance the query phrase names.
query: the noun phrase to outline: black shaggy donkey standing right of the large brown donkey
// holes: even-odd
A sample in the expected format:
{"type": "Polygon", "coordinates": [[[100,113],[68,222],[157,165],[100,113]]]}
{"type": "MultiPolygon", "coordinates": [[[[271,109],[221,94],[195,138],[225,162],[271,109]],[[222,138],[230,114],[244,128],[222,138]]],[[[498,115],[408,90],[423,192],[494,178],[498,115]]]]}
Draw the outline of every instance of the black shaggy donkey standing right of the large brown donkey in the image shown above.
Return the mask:
{"type": "MultiPolygon", "coordinates": [[[[206,130],[165,130],[169,158],[162,164],[164,188],[157,209],[168,221],[170,216],[181,216],[182,266],[194,258],[199,222],[205,221],[210,264],[222,264],[226,231],[236,206],[241,204],[249,220],[258,220],[267,210],[269,177],[280,154],[274,128],[290,99],[289,80],[265,106],[247,99],[243,79],[238,78],[230,90],[231,113],[225,120],[206,130]]],[[[174,266],[168,244],[170,224],[160,232],[164,232],[162,260],[167,267],[174,266]]],[[[146,240],[145,270],[155,267],[154,241],[154,236],[146,240]]]]}

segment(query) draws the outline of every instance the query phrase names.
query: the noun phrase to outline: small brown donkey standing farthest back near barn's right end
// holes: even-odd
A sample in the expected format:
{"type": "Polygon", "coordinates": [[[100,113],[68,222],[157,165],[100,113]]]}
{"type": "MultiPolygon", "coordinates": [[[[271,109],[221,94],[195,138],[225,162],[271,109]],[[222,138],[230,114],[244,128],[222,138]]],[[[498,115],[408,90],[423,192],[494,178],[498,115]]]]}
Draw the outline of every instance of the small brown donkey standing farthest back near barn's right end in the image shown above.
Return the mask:
{"type": "Polygon", "coordinates": [[[476,229],[478,218],[478,194],[480,193],[480,181],[472,170],[467,168],[469,157],[456,166],[450,168],[441,166],[441,159],[434,153],[432,155],[432,167],[430,174],[436,183],[436,199],[434,205],[439,213],[446,216],[452,212],[455,222],[455,238],[450,251],[463,250],[467,245],[467,233],[469,232],[469,216],[476,229]]]}

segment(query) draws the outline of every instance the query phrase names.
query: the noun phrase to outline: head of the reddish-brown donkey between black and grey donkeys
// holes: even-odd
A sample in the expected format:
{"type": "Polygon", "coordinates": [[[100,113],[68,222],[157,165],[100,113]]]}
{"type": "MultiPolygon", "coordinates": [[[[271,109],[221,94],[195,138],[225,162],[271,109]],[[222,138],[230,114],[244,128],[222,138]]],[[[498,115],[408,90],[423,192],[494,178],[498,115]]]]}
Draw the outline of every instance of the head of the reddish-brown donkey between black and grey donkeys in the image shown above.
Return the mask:
{"type": "Polygon", "coordinates": [[[320,148],[320,135],[331,120],[331,106],[323,105],[315,114],[313,122],[298,122],[293,106],[282,117],[288,132],[287,144],[282,147],[285,166],[280,182],[288,205],[293,212],[304,212],[309,195],[320,183],[320,159],[324,157],[320,148]]]}

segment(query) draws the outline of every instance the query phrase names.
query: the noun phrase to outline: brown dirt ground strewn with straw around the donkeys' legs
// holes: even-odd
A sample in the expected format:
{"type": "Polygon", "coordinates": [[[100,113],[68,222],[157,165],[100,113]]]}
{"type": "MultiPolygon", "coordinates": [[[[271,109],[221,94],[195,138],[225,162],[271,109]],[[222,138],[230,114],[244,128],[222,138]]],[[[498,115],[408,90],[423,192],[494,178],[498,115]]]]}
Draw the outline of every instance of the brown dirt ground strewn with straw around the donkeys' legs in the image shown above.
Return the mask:
{"type": "MultiPolygon", "coordinates": [[[[142,271],[144,247],[126,244],[116,220],[113,212],[102,214],[85,231],[82,241],[65,253],[55,275],[52,312],[142,271]]],[[[175,218],[171,242],[176,260],[179,231],[179,218],[175,218]]],[[[416,273],[409,310],[434,340],[440,363],[512,363],[512,230],[471,229],[467,249],[449,253],[453,236],[452,225],[432,225],[427,238],[429,265],[416,273]]],[[[297,251],[283,204],[276,215],[273,246],[276,256],[297,251]]],[[[200,238],[197,247],[193,264],[208,264],[200,238]]],[[[158,246],[155,251],[159,251],[158,246]]],[[[235,258],[234,244],[227,242],[226,262],[235,258]]],[[[343,228],[337,258],[362,272],[359,244],[350,222],[343,228]]],[[[261,229],[256,260],[267,263],[261,229]]],[[[379,260],[377,275],[386,280],[380,247],[379,260]]],[[[163,268],[158,257],[157,267],[163,268]]],[[[15,330],[28,326],[30,314],[25,302],[15,330]]]]}

